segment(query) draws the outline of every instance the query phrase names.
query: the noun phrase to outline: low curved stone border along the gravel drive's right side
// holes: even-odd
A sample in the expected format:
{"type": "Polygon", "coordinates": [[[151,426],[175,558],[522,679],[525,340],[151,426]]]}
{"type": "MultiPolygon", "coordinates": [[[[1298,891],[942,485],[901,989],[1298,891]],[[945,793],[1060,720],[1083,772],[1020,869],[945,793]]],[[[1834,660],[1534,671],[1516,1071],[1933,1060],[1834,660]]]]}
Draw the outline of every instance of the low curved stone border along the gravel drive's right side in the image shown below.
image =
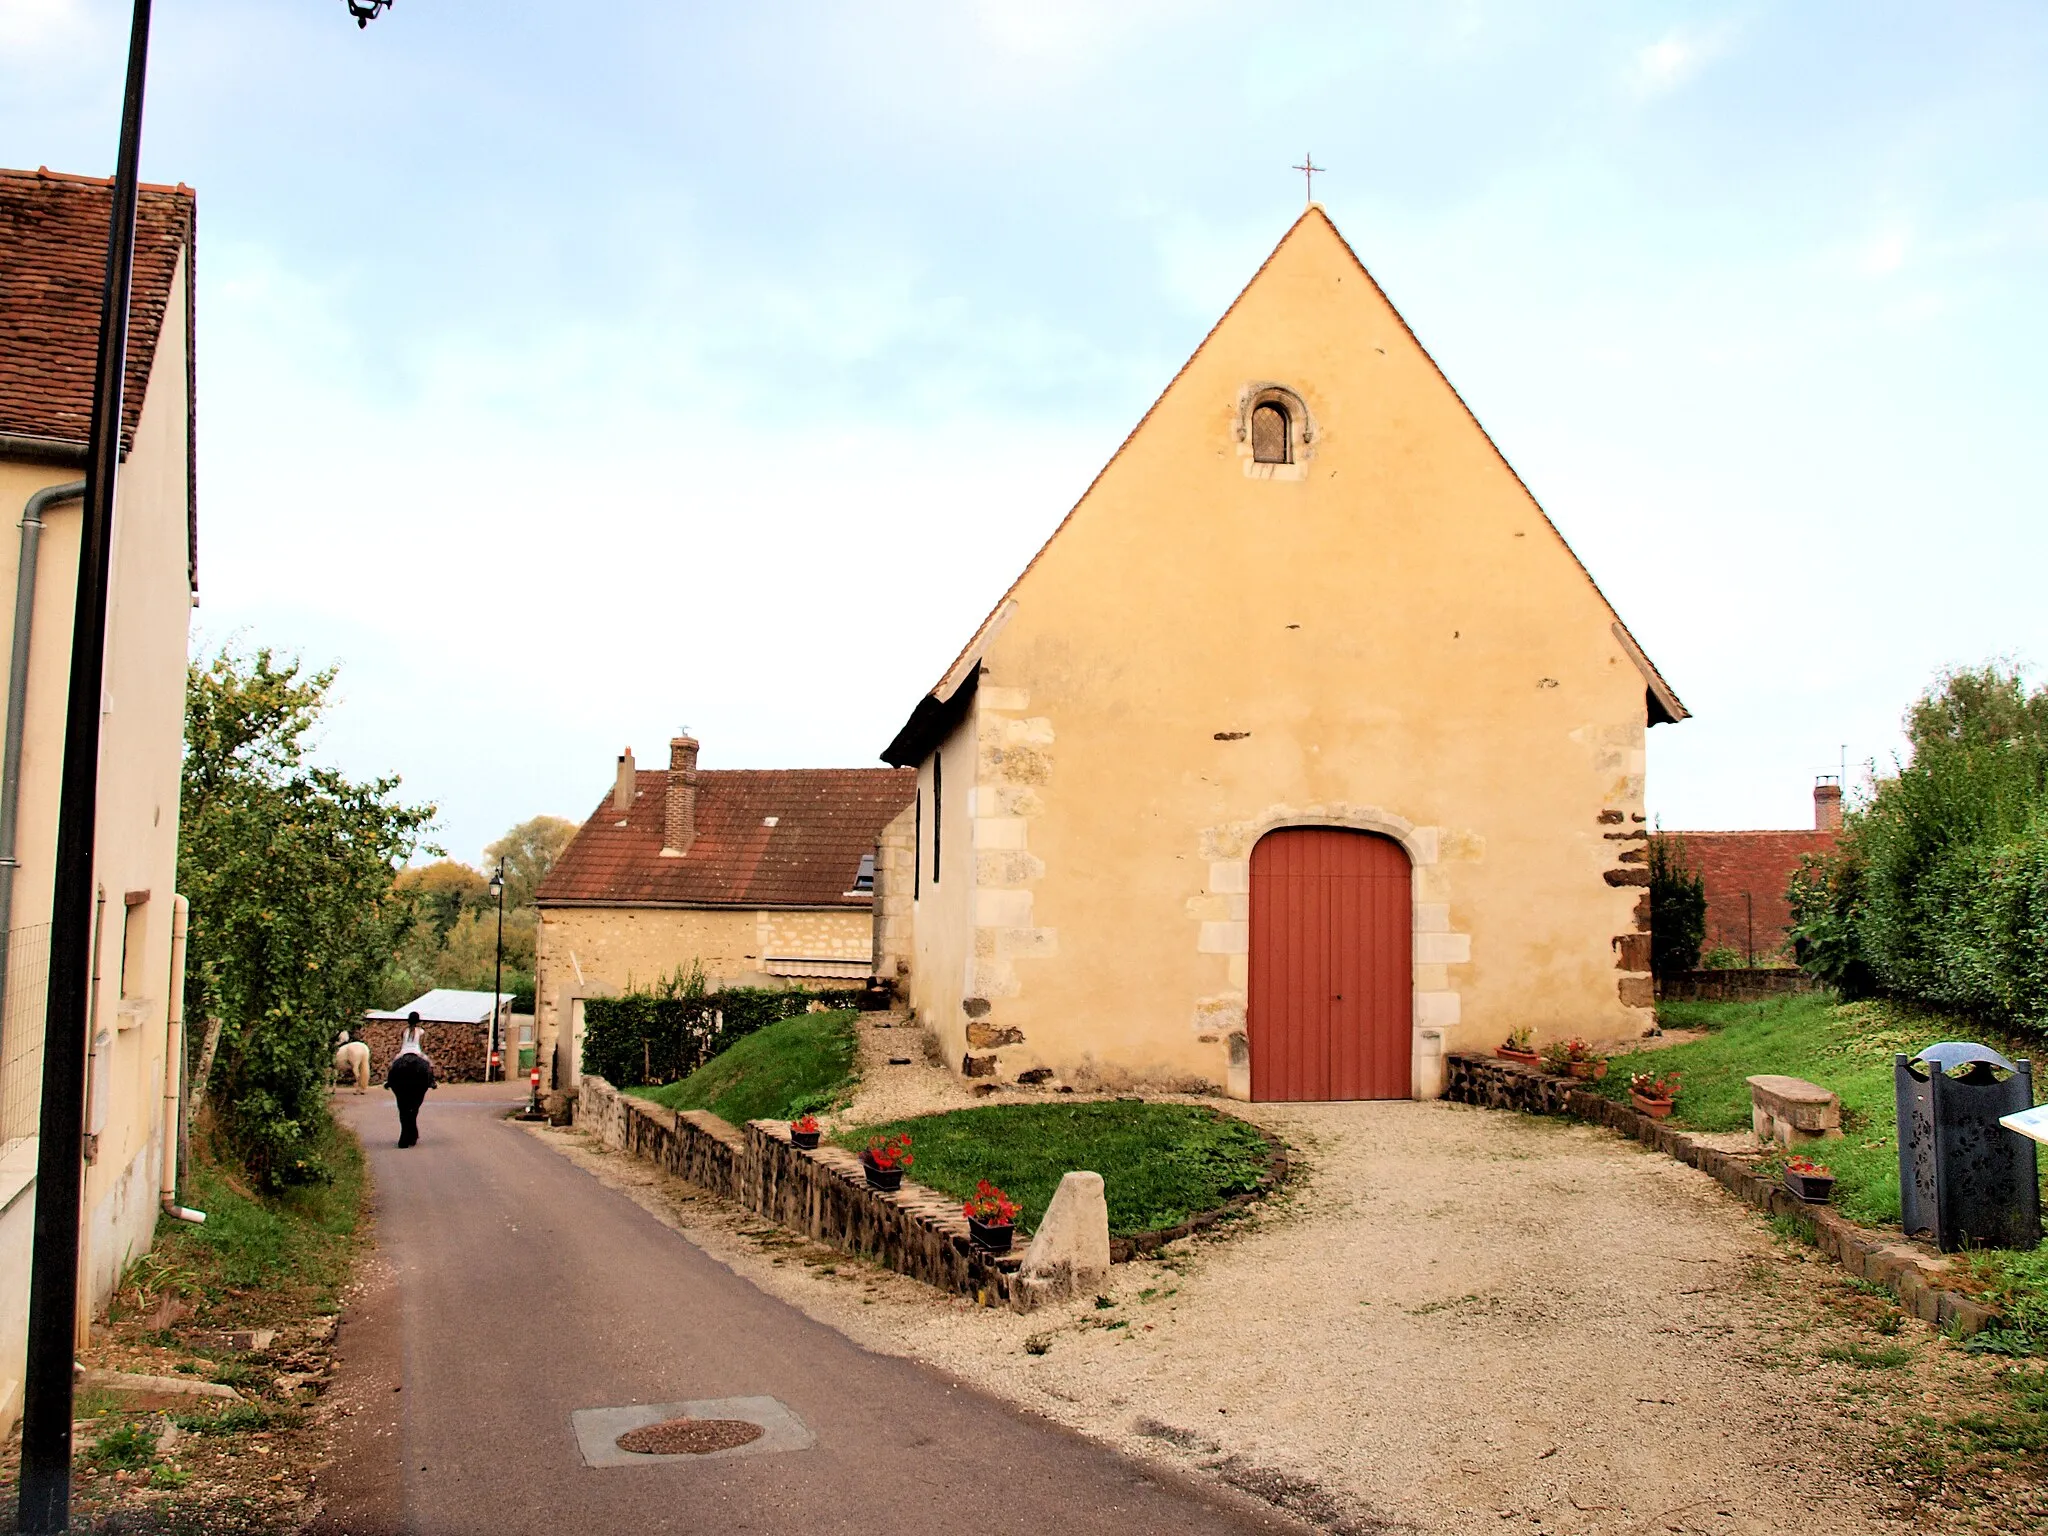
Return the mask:
{"type": "Polygon", "coordinates": [[[1757,1174],[1751,1157],[1706,1147],[1628,1104],[1579,1087],[1571,1077],[1552,1077],[1520,1061],[1454,1051],[1444,1059],[1444,1098],[1495,1110],[1565,1114],[1620,1130],[1702,1174],[1712,1174],[1757,1210],[1810,1223],[1815,1245],[1823,1253],[1858,1280],[1890,1290],[1901,1307],[1925,1323],[1968,1337],[2003,1321],[1991,1307],[1942,1284],[1950,1278],[1948,1260],[1927,1253],[1905,1235],[1874,1233],[1831,1206],[1810,1206],[1778,1180],[1757,1174]]]}

